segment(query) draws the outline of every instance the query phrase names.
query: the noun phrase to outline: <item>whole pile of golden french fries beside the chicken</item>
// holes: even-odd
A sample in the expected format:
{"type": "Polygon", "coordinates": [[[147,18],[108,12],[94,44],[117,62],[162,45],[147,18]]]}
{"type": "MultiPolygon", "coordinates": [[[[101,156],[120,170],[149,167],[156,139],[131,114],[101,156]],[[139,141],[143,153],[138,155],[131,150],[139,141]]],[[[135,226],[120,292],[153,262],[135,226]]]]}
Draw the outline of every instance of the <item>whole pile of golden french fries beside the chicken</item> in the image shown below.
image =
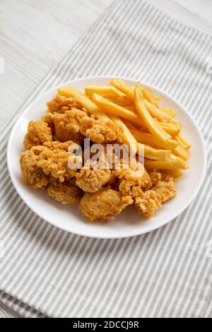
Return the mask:
{"type": "Polygon", "coordinates": [[[122,141],[133,149],[134,155],[139,146],[143,148],[146,169],[162,170],[178,178],[182,175],[180,170],[189,168],[191,145],[180,135],[181,123],[175,119],[175,111],[160,107],[160,97],[140,82],[131,86],[114,78],[109,85],[88,85],[85,93],[68,86],[57,92],[75,98],[101,121],[122,126],[122,141]]]}

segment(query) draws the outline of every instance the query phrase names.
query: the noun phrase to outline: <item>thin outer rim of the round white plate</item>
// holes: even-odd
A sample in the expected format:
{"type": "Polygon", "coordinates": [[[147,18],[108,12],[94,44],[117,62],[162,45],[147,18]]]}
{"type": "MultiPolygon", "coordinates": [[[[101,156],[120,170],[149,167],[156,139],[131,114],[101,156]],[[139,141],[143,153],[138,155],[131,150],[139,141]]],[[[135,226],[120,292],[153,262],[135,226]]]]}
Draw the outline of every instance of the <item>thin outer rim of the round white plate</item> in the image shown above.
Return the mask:
{"type": "Polygon", "coordinates": [[[75,234],[75,235],[80,235],[80,236],[84,236],[84,237],[91,237],[91,238],[98,238],[98,239],[121,239],[121,238],[127,238],[127,237],[135,237],[135,236],[139,236],[139,235],[143,235],[143,234],[147,234],[149,232],[152,232],[153,230],[158,230],[158,228],[160,227],[163,227],[164,225],[167,225],[168,223],[170,223],[172,220],[174,220],[175,218],[177,218],[178,215],[180,215],[184,210],[186,210],[186,208],[192,203],[192,201],[194,201],[194,198],[196,197],[196,195],[198,194],[199,192],[199,189],[201,188],[201,185],[203,184],[203,181],[204,181],[204,177],[205,177],[205,174],[206,174],[206,167],[207,167],[207,153],[206,153],[206,144],[205,144],[205,141],[204,141],[204,136],[203,134],[201,133],[201,130],[199,129],[199,126],[198,124],[196,123],[196,120],[192,117],[191,114],[189,114],[189,112],[187,111],[186,107],[184,107],[181,102],[177,101],[175,99],[175,97],[172,97],[172,95],[166,93],[164,90],[158,88],[157,86],[153,85],[153,84],[150,84],[150,83],[147,83],[146,81],[141,81],[143,85],[145,85],[146,87],[148,88],[153,88],[155,90],[158,90],[160,93],[162,93],[163,95],[165,95],[166,97],[170,98],[171,100],[173,100],[173,102],[175,102],[180,108],[182,108],[183,112],[185,112],[189,119],[192,121],[192,123],[194,124],[194,126],[196,127],[196,130],[198,131],[198,134],[199,134],[199,138],[201,140],[201,146],[203,147],[203,153],[204,153],[204,160],[203,160],[203,163],[204,163],[204,169],[203,169],[203,172],[201,174],[201,179],[199,181],[199,185],[196,187],[196,189],[194,190],[192,196],[189,197],[189,199],[187,200],[187,202],[184,204],[184,206],[177,210],[176,213],[173,213],[172,216],[170,218],[166,218],[165,221],[162,221],[160,223],[158,223],[158,225],[152,225],[151,227],[149,227],[148,230],[140,230],[140,231],[137,231],[137,232],[132,232],[130,233],[129,235],[120,235],[120,236],[117,236],[117,235],[114,235],[114,236],[104,236],[104,235],[96,235],[96,234],[88,234],[88,233],[83,233],[83,232],[77,232],[76,230],[70,230],[70,229],[67,229],[66,227],[63,227],[62,225],[58,225],[57,223],[54,223],[54,221],[52,220],[49,220],[49,218],[46,218],[42,215],[42,213],[37,213],[37,211],[35,211],[35,209],[33,208],[33,206],[31,205],[31,203],[28,202],[28,199],[25,198],[25,196],[21,193],[21,191],[18,189],[18,185],[16,184],[16,179],[15,177],[13,176],[13,171],[11,170],[11,160],[10,160],[10,148],[11,148],[11,141],[12,141],[12,138],[13,138],[13,134],[16,130],[16,127],[18,126],[19,124],[19,121],[20,121],[20,117],[23,117],[23,115],[25,113],[28,112],[28,109],[30,109],[30,107],[32,107],[36,102],[37,100],[40,98],[42,99],[42,97],[44,95],[46,95],[47,93],[51,93],[53,90],[57,90],[57,88],[61,87],[61,86],[64,86],[64,85],[71,85],[72,83],[76,83],[76,82],[81,82],[81,81],[85,81],[85,80],[88,80],[88,79],[100,79],[100,78],[104,78],[104,79],[112,79],[112,78],[120,78],[122,80],[129,80],[129,81],[139,81],[136,80],[136,78],[129,78],[129,77],[126,77],[126,76],[117,76],[117,75],[110,75],[110,76],[107,76],[107,75],[98,75],[98,76],[84,76],[84,77],[81,77],[81,78],[75,78],[71,81],[66,81],[64,83],[60,83],[59,85],[54,85],[52,86],[52,88],[49,88],[48,90],[46,90],[45,92],[43,93],[40,93],[39,95],[37,95],[37,97],[35,97],[35,100],[33,100],[32,102],[30,102],[30,104],[25,107],[25,109],[23,110],[23,112],[21,112],[18,116],[18,119],[16,119],[15,123],[13,124],[13,128],[11,129],[11,133],[9,135],[9,138],[8,138],[8,143],[7,143],[7,148],[6,148],[6,162],[7,162],[7,167],[8,167],[8,173],[11,177],[11,182],[13,183],[13,186],[15,187],[16,191],[18,192],[18,195],[20,196],[20,198],[24,201],[24,203],[36,214],[38,215],[40,218],[42,218],[43,220],[45,220],[47,223],[53,225],[54,227],[58,227],[59,229],[61,230],[64,230],[66,232],[70,232],[71,234],[75,234]]]}

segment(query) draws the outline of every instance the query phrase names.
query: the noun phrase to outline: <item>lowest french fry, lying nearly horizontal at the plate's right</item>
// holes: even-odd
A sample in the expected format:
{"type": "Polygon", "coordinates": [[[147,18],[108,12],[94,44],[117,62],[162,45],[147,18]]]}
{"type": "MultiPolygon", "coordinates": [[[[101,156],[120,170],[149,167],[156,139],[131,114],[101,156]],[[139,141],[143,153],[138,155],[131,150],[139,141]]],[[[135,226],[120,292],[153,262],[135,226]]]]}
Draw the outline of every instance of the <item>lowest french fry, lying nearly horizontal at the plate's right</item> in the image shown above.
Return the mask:
{"type": "Polygon", "coordinates": [[[184,161],[182,158],[174,158],[170,160],[144,160],[144,165],[148,170],[187,170],[189,166],[187,162],[184,161]]]}

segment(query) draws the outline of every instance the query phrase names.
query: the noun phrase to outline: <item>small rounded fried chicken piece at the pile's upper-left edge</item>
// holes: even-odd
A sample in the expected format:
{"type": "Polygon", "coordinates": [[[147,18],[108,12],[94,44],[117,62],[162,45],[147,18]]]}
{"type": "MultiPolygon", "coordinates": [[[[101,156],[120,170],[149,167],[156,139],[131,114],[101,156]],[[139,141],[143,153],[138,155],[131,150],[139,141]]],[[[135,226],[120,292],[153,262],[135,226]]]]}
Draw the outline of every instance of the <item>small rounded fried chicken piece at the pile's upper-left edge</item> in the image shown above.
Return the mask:
{"type": "Polygon", "coordinates": [[[46,141],[52,141],[52,131],[48,124],[42,119],[30,121],[23,141],[25,149],[32,148],[32,146],[40,146],[46,141]]]}

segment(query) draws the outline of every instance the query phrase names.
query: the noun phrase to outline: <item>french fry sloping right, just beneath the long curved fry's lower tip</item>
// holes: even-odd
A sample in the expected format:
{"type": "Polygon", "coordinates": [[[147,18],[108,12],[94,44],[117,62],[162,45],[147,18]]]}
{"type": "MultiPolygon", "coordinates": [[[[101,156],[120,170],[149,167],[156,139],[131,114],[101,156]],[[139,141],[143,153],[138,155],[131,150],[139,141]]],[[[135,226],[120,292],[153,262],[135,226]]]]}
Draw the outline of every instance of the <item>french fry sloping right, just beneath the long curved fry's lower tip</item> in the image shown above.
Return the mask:
{"type": "Polygon", "coordinates": [[[144,133],[143,131],[134,128],[134,126],[131,126],[129,123],[127,123],[127,126],[129,127],[131,134],[133,134],[138,142],[150,144],[151,146],[155,146],[157,148],[164,148],[166,150],[176,148],[178,145],[177,142],[173,139],[168,139],[165,142],[159,141],[158,139],[155,139],[153,135],[144,133]]]}

